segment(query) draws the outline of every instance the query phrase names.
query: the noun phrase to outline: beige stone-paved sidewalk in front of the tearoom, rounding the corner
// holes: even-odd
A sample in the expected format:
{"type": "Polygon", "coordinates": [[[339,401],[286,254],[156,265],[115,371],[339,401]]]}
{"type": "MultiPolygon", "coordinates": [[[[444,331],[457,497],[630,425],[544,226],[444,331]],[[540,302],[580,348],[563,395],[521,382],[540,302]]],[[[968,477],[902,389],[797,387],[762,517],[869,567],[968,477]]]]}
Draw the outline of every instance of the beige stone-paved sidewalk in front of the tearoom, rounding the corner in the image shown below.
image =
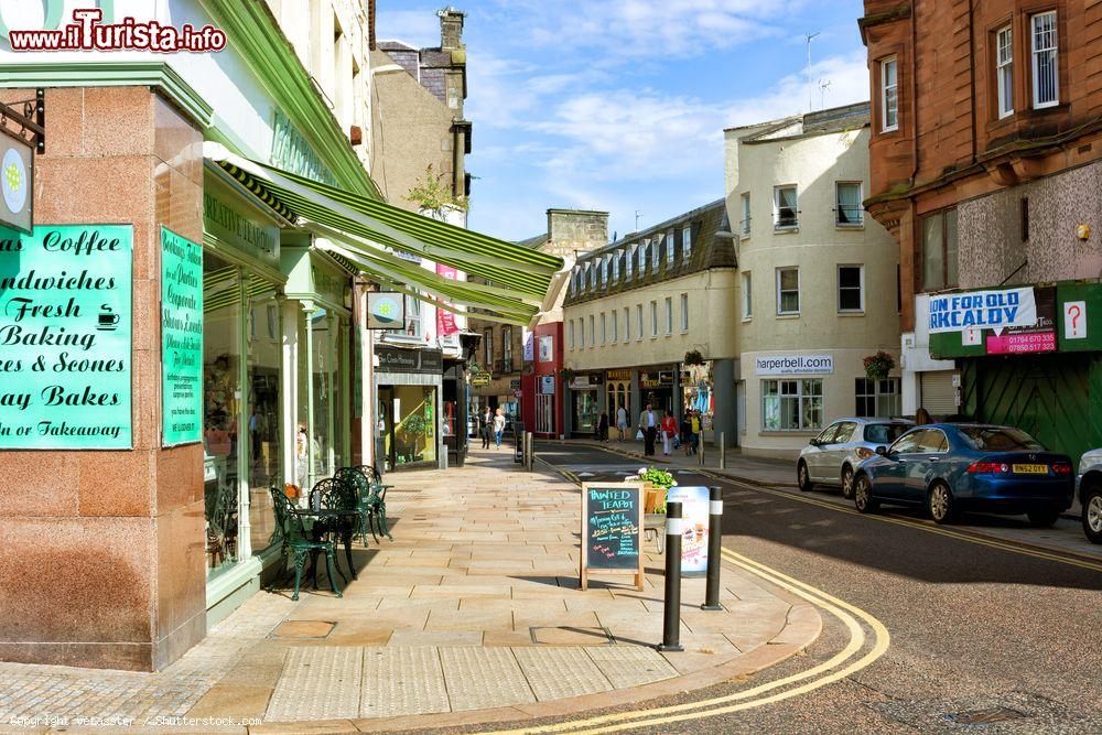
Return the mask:
{"type": "Polygon", "coordinates": [[[803,601],[724,570],[725,609],[700,610],[704,581],[685,580],[685,651],[659,653],[662,558],[647,554],[642,592],[615,577],[577,590],[573,485],[519,472],[505,450],[388,479],[395,541],[355,552],[359,580],[343,598],[324,592],[324,575],[323,592],[298,603],[261,593],[156,674],[0,663],[0,723],[184,715],[204,732],[216,729],[204,717],[233,720],[228,732],[242,732],[242,718],[255,720],[250,732],[283,732],[304,721],[381,731],[522,720],[750,673],[821,630],[803,601]]]}

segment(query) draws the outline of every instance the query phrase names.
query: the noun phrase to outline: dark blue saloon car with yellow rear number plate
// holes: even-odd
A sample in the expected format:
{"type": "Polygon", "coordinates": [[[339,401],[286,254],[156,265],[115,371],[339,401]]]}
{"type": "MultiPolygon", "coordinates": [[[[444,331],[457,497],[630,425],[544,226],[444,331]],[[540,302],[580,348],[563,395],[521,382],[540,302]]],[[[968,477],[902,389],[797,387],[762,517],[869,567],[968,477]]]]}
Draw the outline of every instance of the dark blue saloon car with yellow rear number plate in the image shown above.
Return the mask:
{"type": "Polygon", "coordinates": [[[928,424],[903,434],[861,463],[854,477],[857,510],[880,502],[925,506],[938,523],[958,510],[1026,514],[1037,527],[1071,507],[1071,457],[1046,452],[1012,426],[928,424]]]}

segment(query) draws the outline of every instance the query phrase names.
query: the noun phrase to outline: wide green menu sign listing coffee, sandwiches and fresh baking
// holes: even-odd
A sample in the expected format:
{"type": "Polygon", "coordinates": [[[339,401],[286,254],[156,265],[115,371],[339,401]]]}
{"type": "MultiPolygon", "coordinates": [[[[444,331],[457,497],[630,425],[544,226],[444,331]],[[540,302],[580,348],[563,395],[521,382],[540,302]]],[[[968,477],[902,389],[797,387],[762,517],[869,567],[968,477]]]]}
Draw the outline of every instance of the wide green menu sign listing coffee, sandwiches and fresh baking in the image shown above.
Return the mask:
{"type": "Polygon", "coordinates": [[[0,228],[0,448],[130,448],[130,225],[0,228]]]}

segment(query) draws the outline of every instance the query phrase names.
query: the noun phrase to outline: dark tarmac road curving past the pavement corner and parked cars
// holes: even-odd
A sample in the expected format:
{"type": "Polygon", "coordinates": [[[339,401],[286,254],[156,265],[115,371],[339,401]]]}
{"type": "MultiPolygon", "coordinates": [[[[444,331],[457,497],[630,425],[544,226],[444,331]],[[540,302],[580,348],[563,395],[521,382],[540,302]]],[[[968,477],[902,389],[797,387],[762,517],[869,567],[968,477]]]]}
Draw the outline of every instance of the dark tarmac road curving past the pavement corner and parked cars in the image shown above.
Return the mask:
{"type": "MultiPolygon", "coordinates": [[[[583,480],[623,478],[639,466],[577,445],[540,445],[538,456],[583,480]]],[[[890,646],[866,668],[791,699],[699,720],[640,715],[620,732],[1102,732],[1102,564],[1007,542],[995,548],[688,471],[677,478],[723,487],[726,549],[867,612],[890,633],[890,646]]],[[[810,669],[850,638],[838,619],[824,615],[824,623],[807,656],[655,706],[810,669]]],[[[576,732],[608,732],[588,727],[576,732]]]]}

